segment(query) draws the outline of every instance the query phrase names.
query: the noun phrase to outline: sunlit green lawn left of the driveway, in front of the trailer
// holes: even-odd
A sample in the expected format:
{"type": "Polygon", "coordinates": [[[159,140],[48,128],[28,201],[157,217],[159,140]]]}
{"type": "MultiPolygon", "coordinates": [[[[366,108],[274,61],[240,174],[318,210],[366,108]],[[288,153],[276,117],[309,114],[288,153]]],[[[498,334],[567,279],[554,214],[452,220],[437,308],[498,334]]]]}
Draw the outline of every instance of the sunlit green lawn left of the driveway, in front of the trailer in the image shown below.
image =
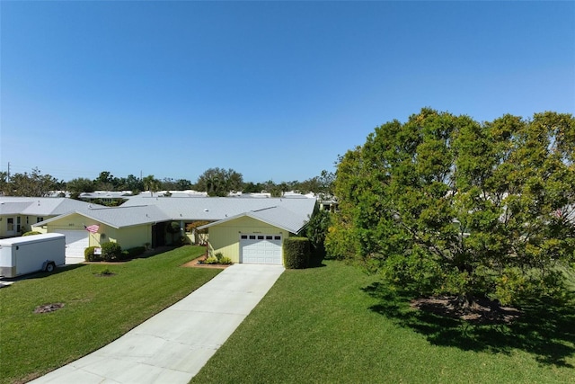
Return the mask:
{"type": "Polygon", "coordinates": [[[183,246],[128,263],[80,264],[0,290],[0,382],[31,380],[125,334],[212,279],[219,270],[181,268],[205,252],[183,246]],[[114,275],[99,273],[109,269],[114,275]],[[55,312],[35,314],[49,303],[55,312]]]}

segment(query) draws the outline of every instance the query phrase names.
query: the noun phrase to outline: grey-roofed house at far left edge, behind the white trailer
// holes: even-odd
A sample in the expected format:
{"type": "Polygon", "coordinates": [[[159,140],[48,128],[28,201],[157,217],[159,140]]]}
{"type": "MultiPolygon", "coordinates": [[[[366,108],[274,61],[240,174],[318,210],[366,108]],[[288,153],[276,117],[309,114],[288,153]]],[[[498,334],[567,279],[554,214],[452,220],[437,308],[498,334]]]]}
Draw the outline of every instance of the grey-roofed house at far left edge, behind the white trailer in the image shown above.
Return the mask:
{"type": "Polygon", "coordinates": [[[21,236],[40,221],[90,206],[91,204],[85,201],[66,198],[2,196],[0,197],[0,237],[21,236]]]}

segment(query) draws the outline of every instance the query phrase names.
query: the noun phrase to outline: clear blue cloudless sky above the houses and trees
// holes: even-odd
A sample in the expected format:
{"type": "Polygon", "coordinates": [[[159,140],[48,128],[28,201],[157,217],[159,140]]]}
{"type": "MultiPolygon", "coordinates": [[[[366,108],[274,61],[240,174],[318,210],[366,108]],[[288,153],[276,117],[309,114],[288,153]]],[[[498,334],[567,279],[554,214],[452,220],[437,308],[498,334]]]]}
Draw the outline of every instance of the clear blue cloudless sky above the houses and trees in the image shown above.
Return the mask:
{"type": "Polygon", "coordinates": [[[304,181],[429,106],[575,113],[575,2],[2,1],[0,170],[304,181]]]}

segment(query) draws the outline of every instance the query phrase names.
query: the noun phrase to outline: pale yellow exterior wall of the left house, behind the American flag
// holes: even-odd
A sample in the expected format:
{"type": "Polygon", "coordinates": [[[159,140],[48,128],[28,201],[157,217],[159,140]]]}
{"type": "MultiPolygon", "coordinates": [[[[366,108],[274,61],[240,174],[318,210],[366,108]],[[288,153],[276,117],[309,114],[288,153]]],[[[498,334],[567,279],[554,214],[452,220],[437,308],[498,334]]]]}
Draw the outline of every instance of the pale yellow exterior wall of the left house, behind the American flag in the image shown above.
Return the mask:
{"type": "Polygon", "coordinates": [[[102,223],[94,222],[77,213],[66,216],[63,219],[57,219],[49,222],[43,227],[34,227],[33,230],[40,232],[58,232],[62,230],[83,230],[84,225],[100,225],[98,233],[90,233],[89,245],[102,246],[103,243],[113,241],[118,243],[122,249],[133,248],[135,246],[146,246],[146,243],[152,243],[151,224],[142,224],[141,226],[128,228],[113,228],[102,223]]]}

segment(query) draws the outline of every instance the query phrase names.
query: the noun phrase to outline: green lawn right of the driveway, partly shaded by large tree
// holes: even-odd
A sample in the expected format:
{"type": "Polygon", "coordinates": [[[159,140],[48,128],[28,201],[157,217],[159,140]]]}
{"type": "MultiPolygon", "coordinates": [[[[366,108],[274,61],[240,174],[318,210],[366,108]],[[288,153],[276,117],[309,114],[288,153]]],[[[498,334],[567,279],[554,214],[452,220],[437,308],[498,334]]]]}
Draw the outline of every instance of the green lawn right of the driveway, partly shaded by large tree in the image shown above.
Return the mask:
{"type": "Polygon", "coordinates": [[[286,271],[191,383],[575,382],[575,310],[466,326],[341,262],[286,271]]]}

